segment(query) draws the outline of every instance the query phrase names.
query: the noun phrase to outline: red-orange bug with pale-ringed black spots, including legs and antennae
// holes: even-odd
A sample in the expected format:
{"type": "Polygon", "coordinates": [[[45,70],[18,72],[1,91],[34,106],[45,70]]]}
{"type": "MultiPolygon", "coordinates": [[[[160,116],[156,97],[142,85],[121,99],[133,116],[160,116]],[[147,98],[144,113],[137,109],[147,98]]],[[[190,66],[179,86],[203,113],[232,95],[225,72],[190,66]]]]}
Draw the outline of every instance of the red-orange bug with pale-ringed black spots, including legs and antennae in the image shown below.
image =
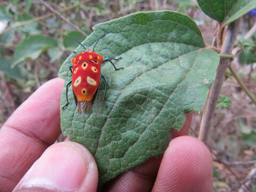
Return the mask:
{"type": "Polygon", "coordinates": [[[94,52],[94,48],[99,40],[108,33],[105,33],[98,39],[93,49],[85,49],[85,47],[75,38],[66,35],[78,42],[85,51],[79,54],[76,53],[77,55],[71,59],[73,66],[70,66],[69,69],[72,73],[72,79],[66,85],[66,104],[62,109],[69,104],[68,86],[71,83],[78,113],[87,113],[93,105],[93,101],[98,91],[100,78],[103,78],[106,81],[106,78],[101,75],[101,65],[109,61],[115,70],[124,69],[123,67],[116,68],[114,63],[111,61],[112,59],[119,60],[121,58],[114,59],[103,57],[102,55],[94,52]]]}

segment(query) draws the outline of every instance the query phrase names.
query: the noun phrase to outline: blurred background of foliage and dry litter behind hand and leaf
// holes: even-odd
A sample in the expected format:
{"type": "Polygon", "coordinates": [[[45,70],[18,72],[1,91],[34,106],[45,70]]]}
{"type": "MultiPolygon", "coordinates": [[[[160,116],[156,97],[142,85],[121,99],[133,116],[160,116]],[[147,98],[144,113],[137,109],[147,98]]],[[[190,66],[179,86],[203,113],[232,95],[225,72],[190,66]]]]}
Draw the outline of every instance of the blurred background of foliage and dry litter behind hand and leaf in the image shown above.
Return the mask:
{"type": "MultiPolygon", "coordinates": [[[[87,35],[97,23],[154,10],[188,14],[201,28],[209,45],[216,27],[216,22],[202,13],[195,0],[45,2],[87,35]]],[[[242,51],[233,61],[233,67],[254,95],[256,36],[247,41],[243,37],[255,23],[255,15],[256,10],[252,10],[242,18],[236,43],[242,51]]],[[[78,46],[63,34],[78,41],[85,38],[39,1],[0,0],[0,126],[39,86],[57,77],[63,61],[78,46]]],[[[200,121],[201,114],[194,114],[190,135],[197,137],[200,121]]],[[[222,87],[213,127],[209,148],[214,160],[214,191],[238,191],[238,183],[256,166],[256,113],[255,106],[230,73],[222,87]]],[[[256,191],[256,181],[253,182],[246,190],[256,191]]]]}

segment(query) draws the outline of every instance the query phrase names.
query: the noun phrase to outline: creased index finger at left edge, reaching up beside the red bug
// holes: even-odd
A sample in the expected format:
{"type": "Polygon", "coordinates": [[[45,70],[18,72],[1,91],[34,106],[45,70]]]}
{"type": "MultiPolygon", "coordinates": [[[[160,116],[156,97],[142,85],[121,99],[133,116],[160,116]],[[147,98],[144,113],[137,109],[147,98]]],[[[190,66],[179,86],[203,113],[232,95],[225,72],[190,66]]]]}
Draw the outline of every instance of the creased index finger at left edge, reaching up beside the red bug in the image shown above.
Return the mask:
{"type": "Polygon", "coordinates": [[[58,138],[63,79],[43,84],[0,129],[0,189],[11,191],[58,138]]]}

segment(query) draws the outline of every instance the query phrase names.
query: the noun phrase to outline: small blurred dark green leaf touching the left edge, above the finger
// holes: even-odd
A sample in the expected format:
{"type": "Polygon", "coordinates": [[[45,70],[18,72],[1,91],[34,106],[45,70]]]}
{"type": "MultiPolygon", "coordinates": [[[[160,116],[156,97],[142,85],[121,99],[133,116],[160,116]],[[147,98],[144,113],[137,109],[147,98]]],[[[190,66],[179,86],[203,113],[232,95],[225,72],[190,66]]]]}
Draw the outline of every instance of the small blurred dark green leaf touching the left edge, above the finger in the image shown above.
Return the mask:
{"type": "Polygon", "coordinates": [[[7,77],[14,79],[22,78],[20,69],[18,67],[11,68],[11,62],[6,58],[0,58],[0,71],[4,73],[7,77]]]}

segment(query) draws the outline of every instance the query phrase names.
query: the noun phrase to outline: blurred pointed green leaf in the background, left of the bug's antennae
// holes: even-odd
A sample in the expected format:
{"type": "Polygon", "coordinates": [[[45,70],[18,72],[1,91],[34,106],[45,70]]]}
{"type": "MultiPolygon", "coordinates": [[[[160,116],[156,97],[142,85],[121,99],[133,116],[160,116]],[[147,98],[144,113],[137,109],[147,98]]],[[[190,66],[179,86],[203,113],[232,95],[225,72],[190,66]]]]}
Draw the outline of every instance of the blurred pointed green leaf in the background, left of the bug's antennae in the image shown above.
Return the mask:
{"type": "Polygon", "coordinates": [[[12,65],[15,66],[28,58],[36,59],[42,52],[57,45],[57,41],[51,37],[43,35],[27,37],[17,45],[12,65]]]}

